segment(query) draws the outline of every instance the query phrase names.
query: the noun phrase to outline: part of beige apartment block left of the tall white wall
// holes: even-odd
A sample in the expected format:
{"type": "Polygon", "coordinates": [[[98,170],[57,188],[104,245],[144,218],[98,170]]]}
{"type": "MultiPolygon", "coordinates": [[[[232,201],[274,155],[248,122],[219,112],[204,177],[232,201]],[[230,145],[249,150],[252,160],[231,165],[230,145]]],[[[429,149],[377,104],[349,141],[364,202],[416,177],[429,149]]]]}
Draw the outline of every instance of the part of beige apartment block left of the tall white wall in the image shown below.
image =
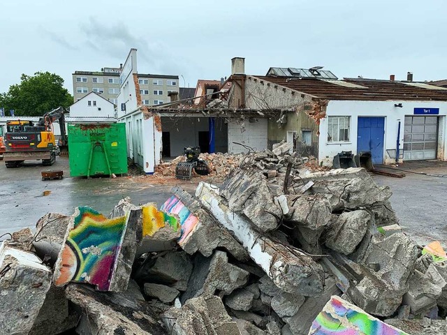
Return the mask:
{"type": "Polygon", "coordinates": [[[101,68],[101,71],[75,71],[73,73],[73,98],[74,101],[94,92],[111,103],[117,105],[119,94],[119,74],[122,68],[101,68]]]}

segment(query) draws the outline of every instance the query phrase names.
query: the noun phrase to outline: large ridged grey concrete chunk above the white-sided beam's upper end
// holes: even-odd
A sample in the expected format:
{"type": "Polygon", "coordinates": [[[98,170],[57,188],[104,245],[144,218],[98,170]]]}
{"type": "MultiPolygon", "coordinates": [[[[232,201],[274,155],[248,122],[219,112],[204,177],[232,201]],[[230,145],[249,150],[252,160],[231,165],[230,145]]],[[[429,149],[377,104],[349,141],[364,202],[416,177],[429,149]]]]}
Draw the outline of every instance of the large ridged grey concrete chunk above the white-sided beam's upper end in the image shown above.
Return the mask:
{"type": "Polygon", "coordinates": [[[274,230],[281,218],[281,209],[274,203],[268,180],[261,172],[237,170],[219,188],[228,202],[228,209],[244,214],[263,232],[274,230]]]}

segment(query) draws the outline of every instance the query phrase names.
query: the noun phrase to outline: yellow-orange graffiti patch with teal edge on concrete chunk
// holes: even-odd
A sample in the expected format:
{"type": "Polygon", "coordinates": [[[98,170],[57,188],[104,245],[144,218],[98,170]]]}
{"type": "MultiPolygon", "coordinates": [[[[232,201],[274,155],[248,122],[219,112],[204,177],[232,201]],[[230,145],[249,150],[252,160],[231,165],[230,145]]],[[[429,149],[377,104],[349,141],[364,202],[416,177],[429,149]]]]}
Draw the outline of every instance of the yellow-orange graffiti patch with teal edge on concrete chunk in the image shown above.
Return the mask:
{"type": "Polygon", "coordinates": [[[180,223],[173,215],[157,210],[155,205],[142,207],[142,236],[154,236],[161,228],[170,226],[174,232],[180,228],[180,223]]]}

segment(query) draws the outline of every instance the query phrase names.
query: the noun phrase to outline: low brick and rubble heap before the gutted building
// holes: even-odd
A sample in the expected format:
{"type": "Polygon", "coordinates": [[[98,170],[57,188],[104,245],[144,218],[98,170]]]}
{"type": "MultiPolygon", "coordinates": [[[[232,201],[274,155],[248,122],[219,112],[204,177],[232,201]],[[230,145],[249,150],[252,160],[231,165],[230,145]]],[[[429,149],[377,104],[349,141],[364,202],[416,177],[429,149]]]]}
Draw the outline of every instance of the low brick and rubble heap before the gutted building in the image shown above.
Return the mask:
{"type": "MultiPolygon", "coordinates": [[[[291,163],[295,172],[296,169],[302,168],[302,163],[309,161],[309,158],[301,157],[295,151],[291,152],[292,147],[291,143],[281,142],[274,144],[273,150],[254,152],[247,148],[248,154],[200,154],[200,158],[207,162],[212,177],[226,177],[237,167],[257,168],[269,178],[284,177],[288,163],[291,163]]],[[[173,161],[161,163],[156,167],[156,174],[175,176],[175,167],[184,161],[186,161],[186,156],[178,156],[173,161]]]]}

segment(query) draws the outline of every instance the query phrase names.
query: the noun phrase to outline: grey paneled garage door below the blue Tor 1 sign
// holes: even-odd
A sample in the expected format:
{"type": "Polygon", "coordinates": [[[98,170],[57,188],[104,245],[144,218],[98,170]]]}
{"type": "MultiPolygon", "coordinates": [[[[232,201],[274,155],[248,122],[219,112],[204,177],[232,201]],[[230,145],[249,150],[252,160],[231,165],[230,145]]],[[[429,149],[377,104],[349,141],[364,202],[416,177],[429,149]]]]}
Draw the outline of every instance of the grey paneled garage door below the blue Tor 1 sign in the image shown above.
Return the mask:
{"type": "Polygon", "coordinates": [[[404,132],[404,160],[436,158],[437,117],[405,117],[404,132]]]}

